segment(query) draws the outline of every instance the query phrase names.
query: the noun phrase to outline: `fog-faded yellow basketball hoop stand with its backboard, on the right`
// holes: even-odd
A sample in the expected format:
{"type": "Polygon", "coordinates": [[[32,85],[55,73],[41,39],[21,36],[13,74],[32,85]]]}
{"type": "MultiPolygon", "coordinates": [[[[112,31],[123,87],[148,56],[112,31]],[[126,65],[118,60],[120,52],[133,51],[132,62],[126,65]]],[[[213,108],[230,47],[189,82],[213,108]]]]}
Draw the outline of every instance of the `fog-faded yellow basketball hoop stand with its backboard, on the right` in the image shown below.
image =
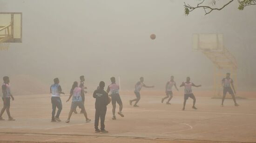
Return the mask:
{"type": "MultiPolygon", "coordinates": [[[[214,97],[218,98],[222,96],[222,78],[226,76],[225,72],[229,72],[234,80],[234,86],[237,88],[237,62],[235,56],[233,56],[228,49],[223,45],[223,35],[221,33],[206,33],[206,34],[193,34],[193,50],[201,51],[211,62],[214,64],[213,72],[213,92],[214,97]],[[203,42],[202,36],[216,35],[216,39],[209,37],[208,48],[202,47],[200,42],[203,42]],[[201,40],[201,41],[200,41],[201,40]],[[211,45],[217,44],[217,47],[211,47],[211,45]]],[[[206,41],[207,42],[207,41],[206,41]]]]}

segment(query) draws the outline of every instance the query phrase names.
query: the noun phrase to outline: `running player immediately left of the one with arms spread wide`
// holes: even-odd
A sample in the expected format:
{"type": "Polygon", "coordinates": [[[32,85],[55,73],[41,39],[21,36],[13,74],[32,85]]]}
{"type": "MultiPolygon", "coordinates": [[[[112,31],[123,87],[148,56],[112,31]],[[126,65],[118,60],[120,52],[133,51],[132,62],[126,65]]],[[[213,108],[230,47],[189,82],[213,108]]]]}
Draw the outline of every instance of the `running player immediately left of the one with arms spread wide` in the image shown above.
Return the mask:
{"type": "Polygon", "coordinates": [[[172,93],[173,86],[175,86],[176,90],[179,91],[179,89],[176,86],[176,82],[174,81],[174,76],[171,76],[171,80],[166,83],[166,86],[165,86],[166,97],[162,98],[162,103],[165,99],[169,98],[166,104],[170,104],[170,100],[172,99],[172,96],[173,96],[173,93],[172,93]]]}

